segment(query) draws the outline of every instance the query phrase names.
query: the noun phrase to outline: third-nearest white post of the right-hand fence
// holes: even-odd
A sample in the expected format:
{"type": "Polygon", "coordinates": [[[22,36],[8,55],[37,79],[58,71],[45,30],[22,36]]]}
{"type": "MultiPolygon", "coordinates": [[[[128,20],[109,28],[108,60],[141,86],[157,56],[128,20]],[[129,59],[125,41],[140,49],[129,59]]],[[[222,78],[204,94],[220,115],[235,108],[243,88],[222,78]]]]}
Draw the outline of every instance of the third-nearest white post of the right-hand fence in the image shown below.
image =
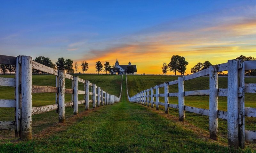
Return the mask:
{"type": "Polygon", "coordinates": [[[178,77],[179,81],[179,120],[185,119],[184,77],[178,77]]]}

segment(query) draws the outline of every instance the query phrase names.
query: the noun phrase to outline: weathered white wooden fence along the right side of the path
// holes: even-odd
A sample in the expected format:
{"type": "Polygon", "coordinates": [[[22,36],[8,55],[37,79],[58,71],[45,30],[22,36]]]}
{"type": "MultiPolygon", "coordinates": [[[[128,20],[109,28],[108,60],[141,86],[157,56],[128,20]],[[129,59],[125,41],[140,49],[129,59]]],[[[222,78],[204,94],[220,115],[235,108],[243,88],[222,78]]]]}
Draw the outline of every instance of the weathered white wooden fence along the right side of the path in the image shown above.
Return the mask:
{"type": "MultiPolygon", "coordinates": [[[[256,131],[245,130],[244,117],[256,117],[256,108],[244,107],[244,93],[256,93],[256,84],[244,84],[244,70],[256,69],[256,61],[229,60],[227,63],[210,66],[208,69],[194,74],[178,77],[178,80],[156,85],[128,98],[130,102],[148,105],[164,106],[165,113],[169,107],[179,109],[179,120],[185,119],[185,111],[209,116],[210,138],[218,140],[218,118],[228,120],[228,145],[244,148],[245,141],[256,141],[256,131]],[[228,71],[228,88],[218,88],[218,72],[228,71]],[[184,81],[209,75],[210,89],[184,91],[184,81]],[[178,84],[179,92],[169,93],[169,86],[178,84]],[[164,93],[159,94],[159,88],[164,93]],[[155,90],[155,93],[154,93],[155,90]],[[209,96],[209,109],[196,108],[185,105],[185,96],[209,96]],[[218,110],[218,96],[228,97],[228,111],[218,110]],[[159,101],[164,97],[164,103],[159,101]],[[169,103],[168,97],[178,97],[178,105],[169,103]],[[156,98],[156,99],[154,99],[156,98]]],[[[127,78],[126,78],[127,82],[127,78]]],[[[256,126],[255,126],[256,130],[256,126]]]]}

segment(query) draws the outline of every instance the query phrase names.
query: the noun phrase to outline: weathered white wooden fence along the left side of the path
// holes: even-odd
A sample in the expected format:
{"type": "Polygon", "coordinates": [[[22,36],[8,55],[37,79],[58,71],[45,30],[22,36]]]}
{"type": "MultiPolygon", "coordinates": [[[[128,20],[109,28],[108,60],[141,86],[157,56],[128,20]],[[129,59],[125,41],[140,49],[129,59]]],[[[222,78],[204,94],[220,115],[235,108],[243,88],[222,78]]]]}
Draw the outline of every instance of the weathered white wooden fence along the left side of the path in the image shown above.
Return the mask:
{"type": "MultiPolygon", "coordinates": [[[[65,107],[73,106],[74,115],[78,114],[78,104],[85,104],[89,110],[89,103],[93,108],[102,105],[111,105],[120,101],[120,96],[111,95],[89,80],[83,80],[56,70],[35,61],[29,56],[0,55],[0,64],[15,65],[15,78],[0,77],[0,86],[15,87],[15,99],[0,99],[0,107],[15,108],[15,121],[0,121],[0,130],[15,130],[15,136],[22,140],[32,139],[32,115],[56,110],[59,113],[59,122],[65,122],[65,107]],[[56,86],[32,85],[32,69],[37,69],[56,76],[56,86]],[[65,89],[65,79],[72,80],[72,89],[65,89]],[[78,90],[78,82],[84,84],[84,90],[78,90]],[[91,91],[90,92],[90,86],[91,91]],[[53,105],[32,107],[32,93],[56,93],[56,102],[53,105]],[[65,93],[72,94],[71,102],[65,102],[65,93]],[[84,95],[84,100],[78,100],[78,94],[84,95]],[[92,95],[90,99],[89,95],[92,95]]],[[[123,77],[122,77],[123,78],[123,77]]],[[[122,79],[123,81],[123,79],[122,79]]],[[[122,92],[122,86],[121,86],[122,92]]]]}

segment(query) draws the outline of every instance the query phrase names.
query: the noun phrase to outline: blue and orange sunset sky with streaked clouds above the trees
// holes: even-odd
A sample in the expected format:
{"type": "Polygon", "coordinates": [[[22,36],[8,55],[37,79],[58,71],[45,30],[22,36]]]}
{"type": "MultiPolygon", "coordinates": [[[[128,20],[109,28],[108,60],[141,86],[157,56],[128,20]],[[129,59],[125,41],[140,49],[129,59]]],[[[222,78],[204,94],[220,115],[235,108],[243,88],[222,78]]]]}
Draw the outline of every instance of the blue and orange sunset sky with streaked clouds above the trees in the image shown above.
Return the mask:
{"type": "Polygon", "coordinates": [[[256,57],[256,1],[1,0],[0,54],[87,61],[86,73],[96,61],[131,60],[138,74],[162,74],[180,55],[186,75],[198,62],[256,57]]]}

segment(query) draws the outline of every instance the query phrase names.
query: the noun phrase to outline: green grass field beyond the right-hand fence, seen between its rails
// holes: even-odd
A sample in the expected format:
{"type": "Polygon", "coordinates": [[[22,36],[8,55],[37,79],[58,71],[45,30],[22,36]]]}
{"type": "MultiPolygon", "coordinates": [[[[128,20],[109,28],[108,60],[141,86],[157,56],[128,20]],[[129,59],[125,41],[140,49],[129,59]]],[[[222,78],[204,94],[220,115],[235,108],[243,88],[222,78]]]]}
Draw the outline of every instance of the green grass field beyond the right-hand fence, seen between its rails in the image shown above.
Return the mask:
{"type": "MultiPolygon", "coordinates": [[[[143,75],[128,75],[128,92],[130,96],[135,95],[139,91],[148,89],[156,84],[162,84],[166,81],[173,81],[178,79],[178,77],[173,76],[143,76],[143,75]]],[[[219,88],[227,88],[227,78],[219,77],[218,86],[219,88]]],[[[256,78],[245,78],[245,83],[256,83],[256,78]]],[[[185,81],[185,91],[192,90],[204,90],[209,89],[209,77],[200,77],[192,80],[185,81]]],[[[178,92],[178,85],[169,86],[169,92],[178,92]]],[[[155,91],[154,91],[155,93],[155,91]]],[[[160,88],[160,93],[164,93],[163,88],[160,88]]],[[[245,106],[246,107],[256,107],[256,94],[245,94],[245,106]]],[[[160,102],[164,102],[164,98],[160,97],[160,102]]],[[[178,104],[177,97],[169,97],[169,103],[178,104]]],[[[189,96],[185,97],[185,105],[193,106],[198,108],[209,109],[209,96],[189,96]]],[[[161,106],[160,109],[163,109],[161,106]]],[[[227,98],[219,97],[218,99],[218,109],[227,111],[227,98]]],[[[170,108],[170,113],[173,115],[179,116],[178,109],[170,108]]],[[[196,125],[199,128],[204,130],[209,129],[209,118],[208,116],[199,115],[195,113],[190,113],[186,111],[186,120],[196,125]]],[[[245,117],[245,129],[247,130],[256,130],[256,118],[245,117]]],[[[227,121],[219,119],[219,134],[221,136],[220,141],[227,142],[227,121]]],[[[250,143],[250,142],[249,142],[250,143]]],[[[255,144],[254,144],[255,145],[255,144]]]]}

